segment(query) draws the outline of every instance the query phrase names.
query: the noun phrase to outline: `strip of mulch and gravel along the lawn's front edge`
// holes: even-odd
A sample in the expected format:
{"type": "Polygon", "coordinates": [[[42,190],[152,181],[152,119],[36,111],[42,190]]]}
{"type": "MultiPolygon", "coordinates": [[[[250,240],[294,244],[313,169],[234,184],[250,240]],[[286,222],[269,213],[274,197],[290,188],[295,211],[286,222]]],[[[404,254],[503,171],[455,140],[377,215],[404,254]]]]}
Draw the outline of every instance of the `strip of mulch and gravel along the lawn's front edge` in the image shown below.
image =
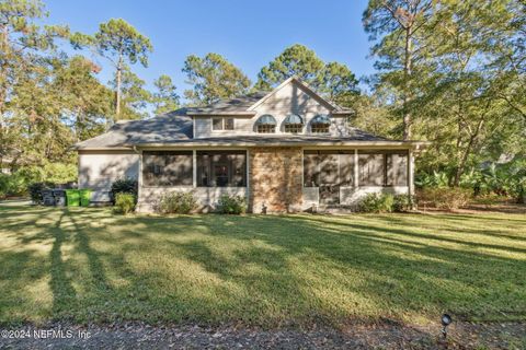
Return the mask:
{"type": "MultiPolygon", "coordinates": [[[[49,324],[26,326],[30,337],[0,338],[1,349],[524,349],[526,323],[454,323],[447,340],[439,325],[415,328],[398,323],[355,325],[345,329],[260,329],[236,326],[108,326],[49,324]],[[33,329],[69,330],[70,338],[35,339],[33,329]],[[79,338],[79,330],[89,334],[79,338]]],[[[2,331],[7,328],[2,328],[2,331]]],[[[3,332],[2,332],[3,334],[3,332]]]]}

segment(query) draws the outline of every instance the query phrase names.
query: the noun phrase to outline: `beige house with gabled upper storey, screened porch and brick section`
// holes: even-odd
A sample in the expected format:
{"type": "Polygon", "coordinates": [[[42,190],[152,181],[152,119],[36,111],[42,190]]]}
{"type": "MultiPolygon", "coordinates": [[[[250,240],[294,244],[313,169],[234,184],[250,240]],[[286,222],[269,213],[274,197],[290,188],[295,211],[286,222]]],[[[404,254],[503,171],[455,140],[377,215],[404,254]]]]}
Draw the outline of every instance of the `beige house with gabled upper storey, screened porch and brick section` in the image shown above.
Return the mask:
{"type": "Polygon", "coordinates": [[[348,125],[351,114],[290,78],[270,93],[117,122],[77,144],[79,188],[108,201],[114,180],[136,178],[141,212],[173,190],[193,191],[204,211],[224,194],[243,196],[252,212],[412,194],[413,154],[424,143],[358,130],[348,125]]]}

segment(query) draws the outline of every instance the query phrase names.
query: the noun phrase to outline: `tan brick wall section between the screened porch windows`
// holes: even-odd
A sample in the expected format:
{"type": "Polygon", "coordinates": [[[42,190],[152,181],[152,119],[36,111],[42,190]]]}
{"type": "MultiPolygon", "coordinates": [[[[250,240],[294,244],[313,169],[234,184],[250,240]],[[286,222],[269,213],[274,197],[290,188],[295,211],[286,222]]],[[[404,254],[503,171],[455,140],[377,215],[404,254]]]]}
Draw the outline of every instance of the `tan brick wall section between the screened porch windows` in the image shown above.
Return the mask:
{"type": "Polygon", "coordinates": [[[253,148],[249,151],[249,209],[260,213],[301,210],[301,149],[253,148]]]}

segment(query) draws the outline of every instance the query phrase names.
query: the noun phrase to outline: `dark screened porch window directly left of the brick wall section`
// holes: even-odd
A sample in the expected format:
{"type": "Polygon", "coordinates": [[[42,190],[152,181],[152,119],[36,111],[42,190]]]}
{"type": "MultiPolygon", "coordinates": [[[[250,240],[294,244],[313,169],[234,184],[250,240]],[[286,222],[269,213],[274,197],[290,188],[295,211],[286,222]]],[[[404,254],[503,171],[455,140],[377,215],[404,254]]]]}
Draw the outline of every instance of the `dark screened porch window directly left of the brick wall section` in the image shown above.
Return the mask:
{"type": "Polygon", "coordinates": [[[197,186],[245,187],[245,151],[197,151],[197,186]]]}

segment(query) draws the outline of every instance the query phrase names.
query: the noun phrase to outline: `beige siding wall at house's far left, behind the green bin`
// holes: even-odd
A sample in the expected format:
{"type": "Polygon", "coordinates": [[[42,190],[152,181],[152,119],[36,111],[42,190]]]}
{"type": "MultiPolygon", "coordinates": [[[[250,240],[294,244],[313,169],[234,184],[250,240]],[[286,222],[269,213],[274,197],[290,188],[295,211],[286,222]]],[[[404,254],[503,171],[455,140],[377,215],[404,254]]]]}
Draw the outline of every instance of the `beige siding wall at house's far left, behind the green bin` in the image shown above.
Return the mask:
{"type": "Polygon", "coordinates": [[[79,153],[79,188],[93,189],[93,201],[108,201],[110,189],[118,178],[138,178],[139,155],[133,151],[79,153]]]}

